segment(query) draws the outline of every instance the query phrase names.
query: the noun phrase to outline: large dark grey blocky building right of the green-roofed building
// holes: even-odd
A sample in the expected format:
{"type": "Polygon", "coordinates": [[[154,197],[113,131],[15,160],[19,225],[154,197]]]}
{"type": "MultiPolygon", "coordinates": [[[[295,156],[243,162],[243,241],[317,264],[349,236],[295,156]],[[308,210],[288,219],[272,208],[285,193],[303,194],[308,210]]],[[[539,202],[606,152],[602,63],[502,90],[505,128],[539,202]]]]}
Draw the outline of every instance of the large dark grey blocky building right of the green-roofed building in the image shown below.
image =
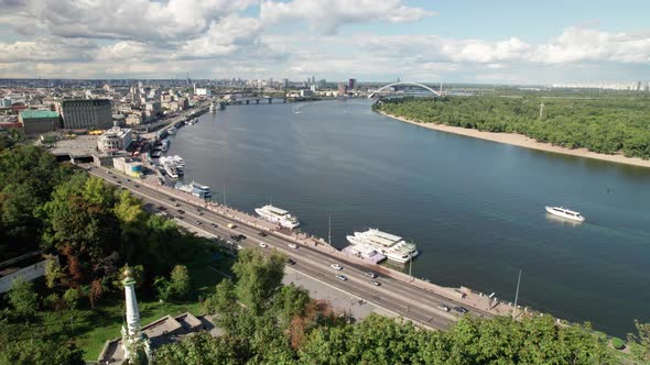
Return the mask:
{"type": "Polygon", "coordinates": [[[59,107],[66,130],[107,130],[112,126],[108,99],[64,100],[59,107]]]}

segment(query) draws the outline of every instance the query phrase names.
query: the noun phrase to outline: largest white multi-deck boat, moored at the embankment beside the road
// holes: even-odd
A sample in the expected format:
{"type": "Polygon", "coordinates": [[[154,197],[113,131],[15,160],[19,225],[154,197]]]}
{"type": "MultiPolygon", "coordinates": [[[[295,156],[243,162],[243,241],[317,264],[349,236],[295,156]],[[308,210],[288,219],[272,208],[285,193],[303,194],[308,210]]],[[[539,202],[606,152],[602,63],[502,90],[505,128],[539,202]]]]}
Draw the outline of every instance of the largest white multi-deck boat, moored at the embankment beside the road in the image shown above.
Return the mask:
{"type": "Polygon", "coordinates": [[[402,264],[408,263],[420,254],[415,244],[407,243],[399,235],[386,233],[377,229],[369,229],[366,232],[355,232],[354,235],[348,235],[347,240],[354,245],[372,247],[388,259],[402,264]]]}

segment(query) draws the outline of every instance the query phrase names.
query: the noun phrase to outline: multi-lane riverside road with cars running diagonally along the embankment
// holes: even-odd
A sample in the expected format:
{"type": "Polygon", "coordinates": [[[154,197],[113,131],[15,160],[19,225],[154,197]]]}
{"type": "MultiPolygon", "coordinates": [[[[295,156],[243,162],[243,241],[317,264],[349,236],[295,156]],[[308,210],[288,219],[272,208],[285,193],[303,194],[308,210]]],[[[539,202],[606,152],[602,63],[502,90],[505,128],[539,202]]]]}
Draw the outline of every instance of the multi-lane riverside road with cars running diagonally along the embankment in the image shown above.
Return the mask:
{"type": "Polygon", "coordinates": [[[242,247],[258,247],[263,251],[279,250],[295,262],[292,265],[294,269],[425,327],[447,328],[458,316],[463,316],[454,309],[455,307],[464,307],[469,309],[470,313],[491,317],[490,313],[478,308],[468,307],[466,303],[423,290],[403,280],[381,275],[381,273],[378,273],[380,275],[375,279],[380,285],[376,286],[370,283],[372,279],[367,276],[369,269],[364,265],[344,262],[307,245],[297,245],[297,248],[292,248],[289,244],[294,242],[271,231],[253,228],[217,212],[181,201],[178,196],[171,196],[118,173],[109,173],[108,169],[100,167],[93,167],[88,172],[108,182],[121,185],[144,202],[152,203],[156,209],[164,207],[163,209],[175,219],[182,219],[209,234],[226,239],[243,234],[247,239],[239,242],[242,247]],[[196,210],[197,208],[201,209],[201,212],[196,210]],[[178,209],[184,212],[180,213],[178,209]],[[237,228],[229,229],[229,223],[236,224],[237,228]],[[260,235],[262,231],[266,236],[260,235]],[[266,243],[267,247],[260,247],[260,242],[266,243]],[[334,269],[333,264],[339,264],[343,269],[334,269]],[[344,275],[347,280],[337,278],[337,274],[344,275]],[[451,311],[442,309],[441,306],[451,308],[451,311]]]}

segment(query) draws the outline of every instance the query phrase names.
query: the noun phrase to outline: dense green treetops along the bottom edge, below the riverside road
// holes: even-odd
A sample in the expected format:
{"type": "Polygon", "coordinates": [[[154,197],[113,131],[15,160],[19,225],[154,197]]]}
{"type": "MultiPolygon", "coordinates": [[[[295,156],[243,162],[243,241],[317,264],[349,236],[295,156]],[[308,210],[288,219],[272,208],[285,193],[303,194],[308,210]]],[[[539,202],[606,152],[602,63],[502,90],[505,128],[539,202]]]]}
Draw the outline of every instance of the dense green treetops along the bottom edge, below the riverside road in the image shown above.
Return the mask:
{"type": "MultiPolygon", "coordinates": [[[[205,301],[226,334],[188,336],[154,353],[163,365],[199,364],[613,364],[607,340],[588,324],[551,317],[521,321],[464,317],[445,332],[380,316],[355,322],[308,292],[281,286],[284,258],[245,250],[236,281],[205,301]]],[[[639,329],[640,333],[642,329],[639,329]]],[[[648,328],[646,328],[648,331],[648,328]]],[[[644,332],[644,341],[650,340],[644,332]]],[[[643,334],[641,335],[643,339],[643,334]]],[[[643,341],[643,340],[642,340],[643,341]]],[[[641,349],[641,347],[637,347],[641,349]]],[[[648,355],[638,352],[639,358],[648,355]]],[[[648,358],[648,357],[647,357],[648,358]]]]}

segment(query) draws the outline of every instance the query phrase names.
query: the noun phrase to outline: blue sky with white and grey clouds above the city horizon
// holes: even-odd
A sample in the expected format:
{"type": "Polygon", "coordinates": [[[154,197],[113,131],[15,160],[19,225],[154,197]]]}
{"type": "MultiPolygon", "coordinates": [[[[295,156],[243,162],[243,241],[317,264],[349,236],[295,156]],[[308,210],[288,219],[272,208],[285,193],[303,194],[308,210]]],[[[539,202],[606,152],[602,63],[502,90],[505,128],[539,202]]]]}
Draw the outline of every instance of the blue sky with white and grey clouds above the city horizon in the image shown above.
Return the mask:
{"type": "Polygon", "coordinates": [[[0,78],[650,80],[647,0],[0,0],[0,78]]]}

